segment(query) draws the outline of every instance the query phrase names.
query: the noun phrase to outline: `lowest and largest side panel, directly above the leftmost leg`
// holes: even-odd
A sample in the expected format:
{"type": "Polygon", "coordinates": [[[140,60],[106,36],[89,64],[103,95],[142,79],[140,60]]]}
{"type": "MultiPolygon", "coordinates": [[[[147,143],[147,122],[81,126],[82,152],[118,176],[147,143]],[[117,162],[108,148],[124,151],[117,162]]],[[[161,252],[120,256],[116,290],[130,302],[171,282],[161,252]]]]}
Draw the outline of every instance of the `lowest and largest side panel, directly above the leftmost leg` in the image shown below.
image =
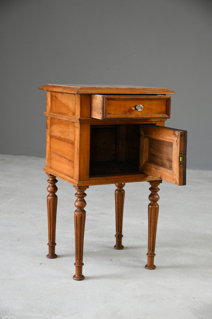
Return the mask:
{"type": "Polygon", "coordinates": [[[72,177],[74,175],[74,142],[50,137],[50,168],[72,177]]]}

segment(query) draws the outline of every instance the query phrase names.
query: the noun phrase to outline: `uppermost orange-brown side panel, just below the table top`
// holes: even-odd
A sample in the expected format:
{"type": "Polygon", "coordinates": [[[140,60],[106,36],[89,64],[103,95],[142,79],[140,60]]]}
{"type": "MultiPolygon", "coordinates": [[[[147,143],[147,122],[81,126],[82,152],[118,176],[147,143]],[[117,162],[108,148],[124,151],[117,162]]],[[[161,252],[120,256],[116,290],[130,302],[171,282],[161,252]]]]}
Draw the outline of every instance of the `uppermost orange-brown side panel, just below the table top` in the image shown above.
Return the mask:
{"type": "Polygon", "coordinates": [[[75,94],[51,92],[51,112],[63,115],[74,115],[75,94]]]}

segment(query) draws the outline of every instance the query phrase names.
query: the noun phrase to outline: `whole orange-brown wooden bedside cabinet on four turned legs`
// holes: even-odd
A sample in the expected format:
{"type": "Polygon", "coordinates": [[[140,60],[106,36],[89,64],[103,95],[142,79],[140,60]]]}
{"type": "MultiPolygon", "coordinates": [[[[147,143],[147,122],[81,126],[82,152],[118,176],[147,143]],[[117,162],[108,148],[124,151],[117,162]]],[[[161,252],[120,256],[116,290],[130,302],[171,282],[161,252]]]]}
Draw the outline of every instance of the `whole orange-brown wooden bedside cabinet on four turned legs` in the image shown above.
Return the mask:
{"type": "Polygon", "coordinates": [[[85,190],[115,183],[116,245],[123,249],[122,221],[126,182],[148,181],[147,269],[154,269],[158,191],[162,180],[185,185],[187,132],[164,127],[170,117],[166,88],[113,85],[44,85],[47,119],[46,166],[49,254],[56,258],[56,176],[76,188],[76,280],[83,280],[85,190]]]}

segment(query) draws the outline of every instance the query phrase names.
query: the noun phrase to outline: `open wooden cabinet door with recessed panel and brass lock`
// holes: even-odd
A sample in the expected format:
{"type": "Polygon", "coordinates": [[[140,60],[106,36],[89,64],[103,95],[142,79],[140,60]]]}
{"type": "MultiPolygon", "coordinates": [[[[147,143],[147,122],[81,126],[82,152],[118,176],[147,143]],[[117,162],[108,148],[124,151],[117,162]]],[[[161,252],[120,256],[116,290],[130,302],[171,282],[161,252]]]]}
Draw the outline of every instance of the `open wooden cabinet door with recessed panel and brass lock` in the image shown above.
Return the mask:
{"type": "Polygon", "coordinates": [[[142,124],[140,143],[140,172],[186,184],[187,131],[142,124]]]}

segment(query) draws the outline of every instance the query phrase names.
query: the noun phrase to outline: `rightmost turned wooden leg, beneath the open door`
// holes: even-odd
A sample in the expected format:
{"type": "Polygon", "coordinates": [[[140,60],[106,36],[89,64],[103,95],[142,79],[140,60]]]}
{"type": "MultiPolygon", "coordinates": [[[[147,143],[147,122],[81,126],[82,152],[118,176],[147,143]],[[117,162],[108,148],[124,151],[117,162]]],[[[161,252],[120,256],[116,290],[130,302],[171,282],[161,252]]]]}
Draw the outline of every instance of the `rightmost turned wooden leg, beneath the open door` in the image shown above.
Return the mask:
{"type": "Polygon", "coordinates": [[[159,211],[159,205],[157,201],[159,200],[159,195],[157,192],[160,190],[158,185],[162,181],[151,181],[149,184],[151,185],[149,195],[150,203],[148,205],[148,253],[147,253],[147,264],[145,266],[146,269],[155,269],[154,265],[154,257],[155,257],[155,240],[156,240],[156,229],[157,229],[157,217],[159,211]]]}

